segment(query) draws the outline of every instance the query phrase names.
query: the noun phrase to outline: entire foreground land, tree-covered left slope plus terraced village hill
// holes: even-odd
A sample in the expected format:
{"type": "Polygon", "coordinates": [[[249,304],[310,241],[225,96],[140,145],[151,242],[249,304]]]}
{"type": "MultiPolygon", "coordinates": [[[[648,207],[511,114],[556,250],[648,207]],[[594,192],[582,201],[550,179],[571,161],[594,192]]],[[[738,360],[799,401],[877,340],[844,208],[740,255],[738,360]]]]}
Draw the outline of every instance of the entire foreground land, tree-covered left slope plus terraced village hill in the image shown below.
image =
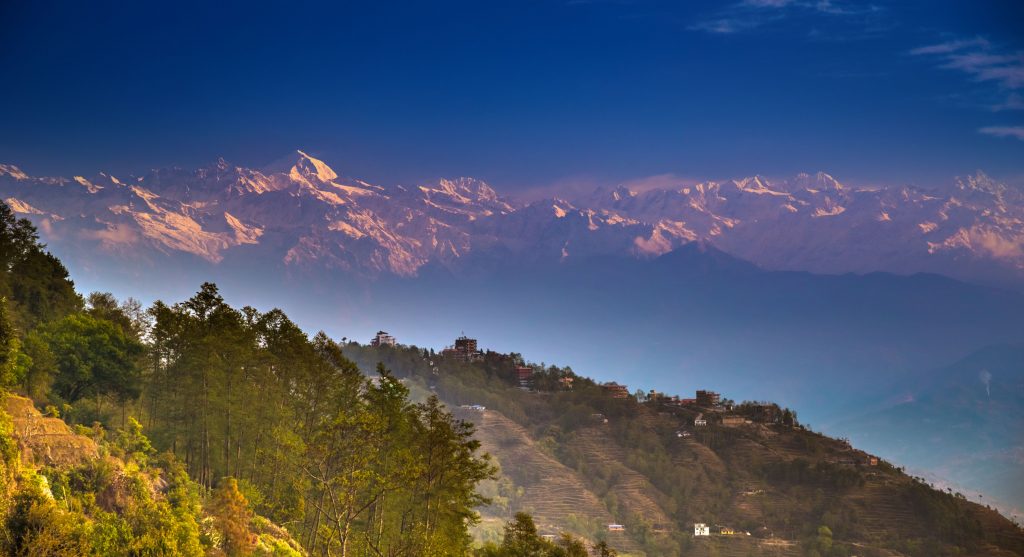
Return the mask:
{"type": "Polygon", "coordinates": [[[0,264],[8,554],[1024,551],[997,513],[771,403],[310,337],[212,284],[148,308],[83,298],[2,204],[0,264]]]}

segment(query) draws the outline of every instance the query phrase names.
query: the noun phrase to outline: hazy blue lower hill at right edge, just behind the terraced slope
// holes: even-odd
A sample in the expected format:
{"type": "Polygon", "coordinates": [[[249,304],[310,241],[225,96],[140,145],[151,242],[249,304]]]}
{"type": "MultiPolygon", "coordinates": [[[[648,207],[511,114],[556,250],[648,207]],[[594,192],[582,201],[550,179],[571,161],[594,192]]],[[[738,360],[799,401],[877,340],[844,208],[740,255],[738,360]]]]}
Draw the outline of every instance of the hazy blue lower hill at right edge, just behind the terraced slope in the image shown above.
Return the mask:
{"type": "Polygon", "coordinates": [[[880,406],[835,427],[1024,517],[1024,344],[979,350],[891,390],[880,406]]]}

